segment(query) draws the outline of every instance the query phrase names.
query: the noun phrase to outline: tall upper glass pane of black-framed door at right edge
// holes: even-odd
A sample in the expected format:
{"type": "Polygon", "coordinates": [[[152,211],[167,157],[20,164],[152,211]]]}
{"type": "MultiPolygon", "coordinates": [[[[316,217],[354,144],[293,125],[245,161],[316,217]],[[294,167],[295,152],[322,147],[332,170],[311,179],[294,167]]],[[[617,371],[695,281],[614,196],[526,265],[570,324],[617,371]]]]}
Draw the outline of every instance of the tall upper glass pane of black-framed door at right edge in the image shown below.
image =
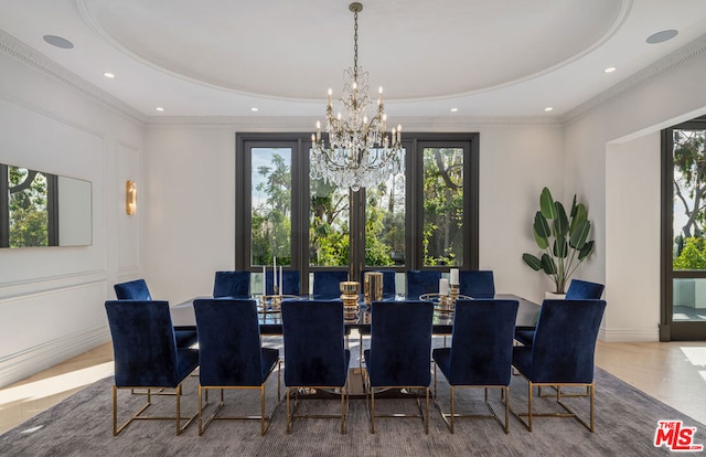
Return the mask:
{"type": "Polygon", "coordinates": [[[705,134],[703,129],[674,129],[674,269],[706,269],[705,134]]]}

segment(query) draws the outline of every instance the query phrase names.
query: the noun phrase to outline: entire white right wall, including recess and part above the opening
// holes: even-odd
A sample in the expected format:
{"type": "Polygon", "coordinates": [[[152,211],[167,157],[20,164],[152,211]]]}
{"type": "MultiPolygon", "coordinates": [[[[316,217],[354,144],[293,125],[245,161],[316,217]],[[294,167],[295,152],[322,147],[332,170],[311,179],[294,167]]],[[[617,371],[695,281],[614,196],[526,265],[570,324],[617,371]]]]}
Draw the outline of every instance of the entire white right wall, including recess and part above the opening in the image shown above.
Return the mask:
{"type": "Polygon", "coordinates": [[[579,276],[606,284],[601,339],[659,340],[660,224],[655,221],[660,203],[654,195],[660,177],[654,151],[660,140],[655,132],[706,113],[705,74],[706,55],[700,53],[566,126],[565,193],[577,193],[588,203],[596,228],[596,254],[579,276]],[[632,140],[638,142],[631,145],[632,140]],[[625,167],[631,160],[633,164],[625,167]],[[628,189],[645,200],[628,204],[627,195],[617,193],[628,189]],[[640,232],[641,241],[655,244],[620,246],[629,241],[631,230],[640,232]],[[631,280],[624,280],[628,274],[631,280]]]}

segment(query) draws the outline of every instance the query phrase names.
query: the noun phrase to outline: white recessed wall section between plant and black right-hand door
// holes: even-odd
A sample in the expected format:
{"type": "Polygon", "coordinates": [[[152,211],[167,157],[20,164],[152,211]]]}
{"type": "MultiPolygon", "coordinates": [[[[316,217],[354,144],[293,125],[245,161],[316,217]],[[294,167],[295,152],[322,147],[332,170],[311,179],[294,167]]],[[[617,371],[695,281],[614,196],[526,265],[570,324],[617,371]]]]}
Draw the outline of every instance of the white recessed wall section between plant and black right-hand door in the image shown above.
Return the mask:
{"type": "Polygon", "coordinates": [[[659,339],[660,177],[659,132],[607,145],[605,252],[610,312],[603,336],[608,341],[659,339]]]}

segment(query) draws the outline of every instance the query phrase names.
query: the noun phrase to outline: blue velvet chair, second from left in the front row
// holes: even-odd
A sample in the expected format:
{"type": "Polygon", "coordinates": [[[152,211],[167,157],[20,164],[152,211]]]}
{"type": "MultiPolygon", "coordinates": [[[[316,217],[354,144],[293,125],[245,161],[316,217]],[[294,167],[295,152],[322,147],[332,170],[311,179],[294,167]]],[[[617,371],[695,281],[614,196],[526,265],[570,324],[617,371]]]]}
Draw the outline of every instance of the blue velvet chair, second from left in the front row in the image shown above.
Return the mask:
{"type": "MultiPolygon", "coordinates": [[[[279,350],[260,347],[260,331],[255,300],[197,299],[194,315],[199,330],[199,435],[213,419],[259,419],[265,435],[279,405],[280,378],[277,375],[277,405],[265,414],[265,383],[279,365],[279,350]],[[203,419],[202,392],[221,390],[221,403],[203,419]],[[259,416],[218,416],[224,405],[224,389],[257,389],[260,391],[259,416]]],[[[206,402],[207,402],[206,394],[206,402]]]]}

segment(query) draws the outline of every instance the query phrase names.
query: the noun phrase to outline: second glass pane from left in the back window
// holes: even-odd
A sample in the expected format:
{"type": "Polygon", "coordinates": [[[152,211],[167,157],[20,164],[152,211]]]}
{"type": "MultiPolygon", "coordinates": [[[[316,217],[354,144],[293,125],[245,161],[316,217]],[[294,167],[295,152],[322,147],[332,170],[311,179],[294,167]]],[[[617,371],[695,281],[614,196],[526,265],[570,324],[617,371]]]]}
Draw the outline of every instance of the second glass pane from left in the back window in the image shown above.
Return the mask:
{"type": "Polygon", "coordinates": [[[349,189],[310,180],[309,192],[309,265],[347,266],[349,189]]]}

